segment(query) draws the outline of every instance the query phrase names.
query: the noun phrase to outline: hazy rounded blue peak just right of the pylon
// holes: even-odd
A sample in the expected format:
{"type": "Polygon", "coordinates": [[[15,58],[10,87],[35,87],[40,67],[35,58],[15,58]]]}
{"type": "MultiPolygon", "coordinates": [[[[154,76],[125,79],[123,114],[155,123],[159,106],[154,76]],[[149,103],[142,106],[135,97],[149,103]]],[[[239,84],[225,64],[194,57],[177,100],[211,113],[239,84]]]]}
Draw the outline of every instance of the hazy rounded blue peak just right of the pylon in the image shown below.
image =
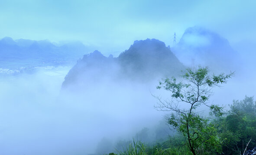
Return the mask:
{"type": "Polygon", "coordinates": [[[242,63],[227,39],[198,26],[187,28],[172,51],[187,66],[207,65],[214,71],[237,70],[242,63]]]}

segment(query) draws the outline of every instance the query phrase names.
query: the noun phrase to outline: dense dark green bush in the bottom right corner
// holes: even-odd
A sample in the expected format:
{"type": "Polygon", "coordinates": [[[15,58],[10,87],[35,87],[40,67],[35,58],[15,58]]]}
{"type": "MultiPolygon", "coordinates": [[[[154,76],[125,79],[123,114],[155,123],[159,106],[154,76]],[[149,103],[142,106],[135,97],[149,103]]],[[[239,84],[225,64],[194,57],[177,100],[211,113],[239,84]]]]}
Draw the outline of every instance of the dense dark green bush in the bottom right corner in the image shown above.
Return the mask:
{"type": "Polygon", "coordinates": [[[243,152],[246,143],[248,148],[256,146],[256,102],[253,97],[233,100],[230,111],[226,115],[217,117],[213,123],[220,133],[222,149],[225,155],[243,152]]]}

